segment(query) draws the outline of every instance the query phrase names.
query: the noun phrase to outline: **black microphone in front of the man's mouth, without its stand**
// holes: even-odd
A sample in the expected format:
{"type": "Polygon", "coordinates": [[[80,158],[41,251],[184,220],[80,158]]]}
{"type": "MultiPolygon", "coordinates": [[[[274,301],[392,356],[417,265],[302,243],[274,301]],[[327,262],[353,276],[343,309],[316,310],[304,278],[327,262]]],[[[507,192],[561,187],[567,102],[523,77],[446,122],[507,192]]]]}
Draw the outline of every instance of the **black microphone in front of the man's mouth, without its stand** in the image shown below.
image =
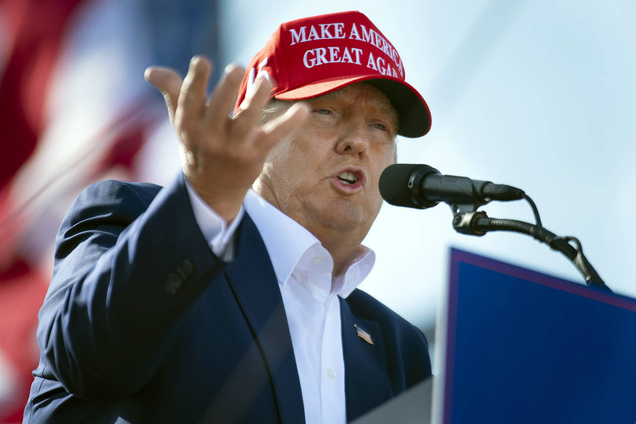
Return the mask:
{"type": "Polygon", "coordinates": [[[380,195],[395,206],[425,209],[445,202],[452,207],[476,208],[491,200],[523,199],[520,188],[467,177],[442,175],[437,169],[421,164],[394,164],[380,175],[380,195]]]}

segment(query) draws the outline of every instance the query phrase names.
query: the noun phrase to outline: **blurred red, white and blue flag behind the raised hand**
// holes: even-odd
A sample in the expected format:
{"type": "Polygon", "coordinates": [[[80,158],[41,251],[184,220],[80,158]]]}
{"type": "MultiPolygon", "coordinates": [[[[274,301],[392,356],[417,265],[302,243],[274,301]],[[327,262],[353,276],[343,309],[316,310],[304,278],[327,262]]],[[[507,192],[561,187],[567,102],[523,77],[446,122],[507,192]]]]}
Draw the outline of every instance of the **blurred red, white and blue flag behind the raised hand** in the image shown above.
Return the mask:
{"type": "Polygon", "coordinates": [[[0,423],[22,421],[66,209],[95,181],[176,174],[144,69],[214,60],[216,15],[209,0],[0,0],[0,423]]]}

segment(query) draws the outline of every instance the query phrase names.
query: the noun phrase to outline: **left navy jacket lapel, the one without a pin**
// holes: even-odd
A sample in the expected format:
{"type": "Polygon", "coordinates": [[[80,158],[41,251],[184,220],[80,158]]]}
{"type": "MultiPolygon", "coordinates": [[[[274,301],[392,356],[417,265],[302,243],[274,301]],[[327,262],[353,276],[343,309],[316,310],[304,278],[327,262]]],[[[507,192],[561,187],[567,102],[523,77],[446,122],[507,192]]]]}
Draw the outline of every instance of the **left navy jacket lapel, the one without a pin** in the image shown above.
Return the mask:
{"type": "Polygon", "coordinates": [[[282,423],[304,423],[296,359],[287,316],[263,239],[245,214],[238,234],[239,255],[226,276],[268,367],[282,423]]]}

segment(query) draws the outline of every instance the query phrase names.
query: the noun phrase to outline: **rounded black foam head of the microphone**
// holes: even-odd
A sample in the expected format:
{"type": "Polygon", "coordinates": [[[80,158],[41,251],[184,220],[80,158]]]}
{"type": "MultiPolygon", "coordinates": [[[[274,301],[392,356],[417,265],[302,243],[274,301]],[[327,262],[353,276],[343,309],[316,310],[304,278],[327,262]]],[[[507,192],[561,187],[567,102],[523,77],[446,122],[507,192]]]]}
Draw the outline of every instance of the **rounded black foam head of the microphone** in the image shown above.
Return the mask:
{"type": "Polygon", "coordinates": [[[413,197],[414,193],[418,193],[422,178],[432,172],[439,173],[437,169],[422,164],[389,165],[380,175],[380,195],[385,201],[395,206],[417,209],[434,206],[433,204],[422,202],[423,199],[415,199],[413,197]],[[415,173],[418,175],[411,180],[411,176],[415,173]],[[414,189],[415,192],[413,191],[414,189]]]}

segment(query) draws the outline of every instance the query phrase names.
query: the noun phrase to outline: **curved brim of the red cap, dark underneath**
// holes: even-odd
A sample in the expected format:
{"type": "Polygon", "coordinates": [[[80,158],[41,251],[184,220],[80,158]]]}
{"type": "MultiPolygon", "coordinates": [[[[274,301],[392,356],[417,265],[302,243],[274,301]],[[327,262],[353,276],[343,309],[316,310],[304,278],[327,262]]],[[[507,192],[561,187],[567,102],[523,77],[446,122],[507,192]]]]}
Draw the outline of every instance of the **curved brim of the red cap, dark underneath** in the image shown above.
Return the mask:
{"type": "Polygon", "coordinates": [[[280,100],[305,100],[328,94],[353,83],[365,81],[384,92],[399,116],[397,134],[421,137],[431,129],[431,111],[422,96],[408,83],[391,76],[378,78],[378,74],[327,78],[274,95],[280,100]]]}

